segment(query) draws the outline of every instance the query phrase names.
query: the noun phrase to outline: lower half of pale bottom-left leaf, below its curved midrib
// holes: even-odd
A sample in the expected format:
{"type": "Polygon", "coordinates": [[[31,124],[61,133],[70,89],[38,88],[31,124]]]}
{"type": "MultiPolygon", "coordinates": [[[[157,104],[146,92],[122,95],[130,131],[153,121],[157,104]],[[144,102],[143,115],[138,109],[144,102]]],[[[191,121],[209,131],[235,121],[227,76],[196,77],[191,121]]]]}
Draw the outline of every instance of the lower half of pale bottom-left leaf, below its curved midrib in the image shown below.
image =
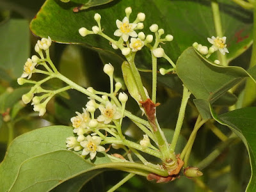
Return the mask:
{"type": "MultiPolygon", "coordinates": [[[[20,165],[19,173],[10,191],[49,191],[77,173],[92,170],[93,163],[68,150],[57,150],[32,157],[20,165]]],[[[95,172],[96,174],[99,171],[95,172]]],[[[86,174],[92,179],[94,172],[86,174]]],[[[83,180],[84,181],[84,180],[83,180]]]]}

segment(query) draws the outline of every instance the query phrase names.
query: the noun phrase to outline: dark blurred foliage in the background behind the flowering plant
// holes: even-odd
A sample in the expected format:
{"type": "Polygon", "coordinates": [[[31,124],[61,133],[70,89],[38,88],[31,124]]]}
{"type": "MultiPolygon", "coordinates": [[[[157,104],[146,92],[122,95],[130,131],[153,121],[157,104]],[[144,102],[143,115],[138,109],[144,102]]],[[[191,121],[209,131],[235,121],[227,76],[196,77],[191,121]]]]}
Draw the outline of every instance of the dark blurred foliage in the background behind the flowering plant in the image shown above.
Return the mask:
{"type": "MultiPolygon", "coordinates": [[[[57,0],[56,0],[57,1],[57,0]]],[[[124,0],[123,0],[124,1],[124,0]]],[[[198,1],[204,4],[208,1],[198,1]]],[[[17,84],[17,77],[22,74],[22,68],[27,58],[35,54],[34,46],[39,39],[34,36],[29,30],[29,22],[40,7],[44,4],[44,0],[0,0],[0,160],[4,158],[6,148],[13,138],[31,131],[39,127],[47,125],[70,125],[70,118],[75,116],[75,111],[81,111],[88,99],[82,93],[76,91],[68,91],[60,96],[52,99],[47,105],[47,113],[39,118],[38,114],[33,112],[31,106],[22,104],[20,98],[22,94],[28,92],[29,87],[26,84],[20,87],[17,84]],[[12,129],[12,127],[14,129],[12,129]]],[[[167,10],[164,10],[167,12],[167,10]]],[[[247,11],[246,11],[247,12],[247,11]]],[[[164,14],[164,13],[163,13],[164,14]]],[[[184,13],[180,13],[181,15],[184,13]]],[[[230,9],[230,15],[236,14],[230,9]]],[[[238,13],[237,13],[238,14],[238,13]]],[[[246,13],[250,15],[249,13],[246,13]]],[[[147,15],[147,13],[146,13],[147,15]]],[[[105,15],[106,16],[106,15],[105,15]]],[[[157,15],[155,15],[157,17],[157,15]]],[[[184,15],[182,16],[184,17],[184,15]]],[[[186,16],[188,17],[188,16],[186,16]]],[[[252,17],[243,17],[246,24],[252,23],[252,17]]],[[[244,22],[243,20],[243,22],[244,22]]],[[[170,18],[170,22],[174,22],[170,18]]],[[[193,20],[190,20],[193,22],[193,20]]],[[[114,24],[113,24],[114,26],[114,24]]],[[[177,27],[181,27],[177,24],[177,27]]],[[[186,31],[186,25],[183,36],[186,36],[185,43],[191,40],[188,36],[189,31],[186,31]]],[[[231,28],[231,26],[230,26],[231,28]]],[[[189,29],[197,30],[197,29],[189,29]]],[[[176,34],[175,34],[176,35],[176,34]]],[[[174,36],[175,36],[174,35],[174,36]]],[[[181,36],[181,35],[180,35],[181,36]]],[[[180,37],[181,38],[181,37],[180,37]]],[[[201,37],[192,39],[198,42],[205,41],[201,37]]],[[[106,43],[106,42],[105,42],[106,43]]],[[[184,44],[185,44],[184,43],[184,44]]],[[[180,45],[180,49],[185,49],[185,45],[180,45]]],[[[189,42],[190,44],[190,42],[189,42]]],[[[247,42],[246,44],[250,44],[247,42]]],[[[180,53],[180,52],[179,52],[180,53]]],[[[177,59],[178,53],[173,54],[177,59]]],[[[232,57],[232,55],[231,55],[232,57]]],[[[108,76],[102,71],[104,63],[111,62],[111,57],[99,54],[95,49],[90,49],[81,45],[68,44],[52,44],[51,58],[60,72],[81,86],[93,86],[95,90],[108,92],[109,83],[108,76]]],[[[245,51],[235,60],[231,61],[231,65],[237,65],[243,68],[241,63],[249,63],[250,49],[245,51]]],[[[165,65],[164,63],[160,65],[165,65]]],[[[141,65],[143,67],[143,65],[141,65]]],[[[115,66],[115,76],[117,79],[122,79],[120,66],[115,66]]],[[[150,73],[142,73],[143,83],[150,90],[150,73]]],[[[169,75],[167,75],[169,76],[169,75]]],[[[36,76],[35,78],[40,78],[36,76]]],[[[157,100],[161,106],[157,108],[157,117],[161,127],[166,128],[166,134],[172,134],[171,129],[174,129],[177,115],[180,107],[182,90],[181,81],[175,79],[168,82],[166,78],[161,80],[159,76],[159,86],[157,90],[157,100]],[[174,83],[174,84],[173,84],[174,83]],[[166,86],[167,85],[167,86],[166,86]],[[172,111],[172,113],[170,113],[172,111]]],[[[46,84],[49,88],[60,86],[61,82],[51,81],[46,84]]],[[[243,84],[241,84],[243,87],[243,84]]],[[[124,90],[126,91],[126,90],[124,90]]],[[[238,95],[237,95],[238,96],[238,95]]],[[[192,98],[193,99],[193,98],[192,98]]],[[[193,100],[189,100],[189,106],[186,113],[186,120],[182,129],[183,140],[188,140],[189,134],[195,124],[197,112],[193,104],[193,100]]],[[[139,114],[136,102],[129,100],[127,109],[134,114],[139,114]]],[[[220,108],[225,111],[225,108],[220,108]]],[[[222,125],[217,125],[221,131],[230,134],[230,130],[222,125]]],[[[138,129],[127,123],[124,127],[128,136],[136,138],[138,129]]],[[[168,138],[171,138],[168,136],[168,138]]],[[[140,140],[140,138],[136,138],[140,140]]],[[[200,129],[196,137],[193,147],[193,154],[189,163],[199,163],[208,154],[219,145],[220,139],[217,138],[207,126],[200,129]],[[196,150],[195,150],[196,149],[196,150]]],[[[180,142],[180,146],[184,143],[180,142]]],[[[248,153],[241,141],[227,148],[209,167],[203,170],[204,176],[200,179],[188,179],[181,177],[174,182],[167,184],[156,184],[148,182],[145,178],[136,176],[124,184],[118,191],[244,191],[246,184],[250,179],[250,164],[248,153]],[[239,151],[239,153],[237,153],[239,151]]],[[[81,191],[106,191],[115,185],[120,178],[127,173],[120,171],[103,172],[90,180],[81,191]]]]}

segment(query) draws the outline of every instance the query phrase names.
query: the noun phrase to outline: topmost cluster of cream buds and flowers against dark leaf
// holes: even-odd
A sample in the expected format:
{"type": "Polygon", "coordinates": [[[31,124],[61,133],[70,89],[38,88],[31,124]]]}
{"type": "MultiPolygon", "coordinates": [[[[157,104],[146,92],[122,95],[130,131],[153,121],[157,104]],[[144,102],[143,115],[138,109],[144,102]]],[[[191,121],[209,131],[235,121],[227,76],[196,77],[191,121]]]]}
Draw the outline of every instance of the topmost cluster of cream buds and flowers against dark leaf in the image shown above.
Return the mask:
{"type": "Polygon", "coordinates": [[[79,34],[81,36],[86,36],[90,34],[97,34],[103,36],[111,42],[113,49],[120,49],[124,56],[135,54],[137,51],[140,51],[146,45],[147,47],[153,50],[154,56],[156,56],[157,58],[163,57],[164,51],[161,47],[157,48],[157,45],[160,42],[172,41],[173,36],[166,35],[165,38],[161,38],[161,35],[164,34],[164,30],[158,29],[157,24],[152,24],[152,26],[150,26],[150,31],[155,33],[156,43],[154,44],[154,46],[150,45],[150,43],[152,43],[154,39],[153,35],[146,36],[145,33],[143,33],[142,31],[138,32],[138,30],[144,28],[143,21],[146,18],[145,13],[138,13],[136,19],[133,22],[130,22],[129,16],[131,15],[131,13],[132,9],[131,7],[128,7],[125,9],[126,16],[124,17],[124,19],[122,19],[122,21],[118,19],[116,20],[117,29],[114,32],[114,35],[120,37],[118,41],[113,40],[112,38],[110,38],[102,32],[100,25],[101,16],[99,15],[99,13],[96,13],[94,16],[94,19],[97,21],[98,26],[93,26],[92,31],[86,28],[80,28],[79,34]]]}

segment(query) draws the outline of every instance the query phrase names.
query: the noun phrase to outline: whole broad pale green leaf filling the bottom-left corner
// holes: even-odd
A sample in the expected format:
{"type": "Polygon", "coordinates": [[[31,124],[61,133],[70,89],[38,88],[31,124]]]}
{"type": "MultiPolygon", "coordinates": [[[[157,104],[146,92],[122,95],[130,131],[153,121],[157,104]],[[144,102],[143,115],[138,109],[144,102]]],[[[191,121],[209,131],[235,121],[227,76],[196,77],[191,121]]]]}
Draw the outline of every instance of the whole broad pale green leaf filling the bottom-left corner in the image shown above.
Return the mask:
{"type": "MultiPolygon", "coordinates": [[[[13,140],[0,164],[0,177],[5,178],[0,180],[1,190],[51,189],[95,164],[110,162],[103,156],[93,164],[68,151],[65,140],[72,134],[71,127],[52,126],[22,134],[13,140]]],[[[87,179],[92,177],[90,174],[87,179]]]]}

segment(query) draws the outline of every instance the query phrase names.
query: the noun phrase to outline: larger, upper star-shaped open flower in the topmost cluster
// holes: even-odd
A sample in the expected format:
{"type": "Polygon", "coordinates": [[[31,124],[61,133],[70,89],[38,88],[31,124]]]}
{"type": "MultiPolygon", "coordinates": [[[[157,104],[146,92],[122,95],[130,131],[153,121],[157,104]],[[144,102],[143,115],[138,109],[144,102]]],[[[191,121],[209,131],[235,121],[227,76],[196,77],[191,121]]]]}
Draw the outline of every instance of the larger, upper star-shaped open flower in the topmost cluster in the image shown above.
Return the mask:
{"type": "Polygon", "coordinates": [[[137,37],[136,31],[134,31],[134,28],[136,28],[137,24],[129,23],[129,19],[127,17],[124,17],[122,21],[116,20],[116,26],[118,29],[116,29],[114,35],[115,36],[122,36],[123,40],[127,42],[129,36],[137,37]]]}

